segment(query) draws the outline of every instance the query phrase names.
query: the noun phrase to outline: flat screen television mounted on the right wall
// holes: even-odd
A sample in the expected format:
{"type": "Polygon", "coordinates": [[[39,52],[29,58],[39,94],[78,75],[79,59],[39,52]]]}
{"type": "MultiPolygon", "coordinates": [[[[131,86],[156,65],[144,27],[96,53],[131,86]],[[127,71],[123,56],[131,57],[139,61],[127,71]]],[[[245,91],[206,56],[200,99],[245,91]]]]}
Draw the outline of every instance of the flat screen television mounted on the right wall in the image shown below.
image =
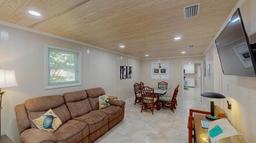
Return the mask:
{"type": "Polygon", "coordinates": [[[224,75],[256,77],[255,55],[239,9],[229,19],[215,43],[224,75]]]}

